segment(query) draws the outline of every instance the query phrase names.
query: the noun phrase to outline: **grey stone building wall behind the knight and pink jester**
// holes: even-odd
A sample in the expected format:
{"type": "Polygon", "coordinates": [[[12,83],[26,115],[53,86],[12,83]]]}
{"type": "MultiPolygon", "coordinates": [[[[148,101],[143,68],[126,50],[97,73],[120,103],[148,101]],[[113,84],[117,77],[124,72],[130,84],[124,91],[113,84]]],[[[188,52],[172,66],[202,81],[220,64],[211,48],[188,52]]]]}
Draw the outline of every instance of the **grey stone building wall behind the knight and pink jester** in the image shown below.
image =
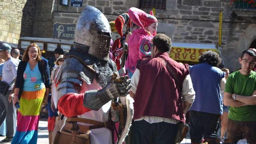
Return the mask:
{"type": "MultiPolygon", "coordinates": [[[[70,1],[69,1],[70,2],[70,1]]],[[[130,7],[138,7],[139,0],[84,0],[86,5],[95,6],[109,21],[130,7]]],[[[54,3],[54,22],[76,23],[83,8],[62,6],[54,3]]],[[[149,13],[151,9],[142,9],[149,13]]],[[[166,0],[166,10],[156,10],[159,20],[158,32],[165,33],[173,42],[218,44],[219,12],[223,12],[221,52],[224,66],[236,70],[240,67],[238,57],[243,49],[249,48],[256,39],[255,10],[236,10],[230,0],[166,0]],[[251,16],[252,15],[252,16],[251,16]]],[[[118,38],[113,33],[113,39],[118,38]]]]}

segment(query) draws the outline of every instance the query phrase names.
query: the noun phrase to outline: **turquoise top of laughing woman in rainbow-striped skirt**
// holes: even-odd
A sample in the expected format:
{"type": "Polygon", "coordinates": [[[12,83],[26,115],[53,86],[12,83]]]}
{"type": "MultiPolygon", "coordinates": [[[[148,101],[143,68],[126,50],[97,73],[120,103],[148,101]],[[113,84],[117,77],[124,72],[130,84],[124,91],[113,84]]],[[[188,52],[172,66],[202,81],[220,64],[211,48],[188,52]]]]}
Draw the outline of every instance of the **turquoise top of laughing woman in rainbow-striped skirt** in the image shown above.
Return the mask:
{"type": "Polygon", "coordinates": [[[31,70],[29,62],[26,65],[26,69],[23,73],[24,78],[24,91],[35,91],[45,88],[45,84],[42,81],[42,76],[38,68],[38,63],[35,65],[34,69],[31,70]]]}

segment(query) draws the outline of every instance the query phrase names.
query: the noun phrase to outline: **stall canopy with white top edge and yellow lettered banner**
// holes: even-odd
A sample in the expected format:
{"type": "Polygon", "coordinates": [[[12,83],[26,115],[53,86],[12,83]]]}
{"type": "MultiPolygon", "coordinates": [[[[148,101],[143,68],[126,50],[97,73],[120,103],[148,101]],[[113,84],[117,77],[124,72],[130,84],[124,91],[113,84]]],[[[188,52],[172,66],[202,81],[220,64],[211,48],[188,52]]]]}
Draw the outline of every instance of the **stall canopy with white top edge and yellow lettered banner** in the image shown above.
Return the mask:
{"type": "Polygon", "coordinates": [[[205,51],[215,51],[221,54],[214,44],[194,44],[173,42],[170,51],[170,58],[177,61],[198,62],[199,56],[205,51]]]}

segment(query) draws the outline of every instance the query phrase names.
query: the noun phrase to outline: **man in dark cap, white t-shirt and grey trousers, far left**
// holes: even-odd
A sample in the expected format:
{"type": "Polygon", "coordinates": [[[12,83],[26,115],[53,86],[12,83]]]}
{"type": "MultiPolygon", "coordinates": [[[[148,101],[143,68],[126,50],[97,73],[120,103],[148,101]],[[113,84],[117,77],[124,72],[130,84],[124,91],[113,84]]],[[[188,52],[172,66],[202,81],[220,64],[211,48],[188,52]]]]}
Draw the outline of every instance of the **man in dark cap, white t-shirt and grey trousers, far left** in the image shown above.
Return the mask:
{"type": "MultiPolygon", "coordinates": [[[[16,79],[18,60],[11,56],[12,48],[4,43],[0,46],[0,56],[5,60],[3,64],[3,73],[1,81],[5,81],[9,85],[16,79]]],[[[0,94],[0,125],[6,118],[7,134],[6,138],[0,143],[10,143],[13,139],[16,129],[16,109],[13,106],[12,98],[14,94],[14,83],[10,85],[6,95],[0,94]]]]}

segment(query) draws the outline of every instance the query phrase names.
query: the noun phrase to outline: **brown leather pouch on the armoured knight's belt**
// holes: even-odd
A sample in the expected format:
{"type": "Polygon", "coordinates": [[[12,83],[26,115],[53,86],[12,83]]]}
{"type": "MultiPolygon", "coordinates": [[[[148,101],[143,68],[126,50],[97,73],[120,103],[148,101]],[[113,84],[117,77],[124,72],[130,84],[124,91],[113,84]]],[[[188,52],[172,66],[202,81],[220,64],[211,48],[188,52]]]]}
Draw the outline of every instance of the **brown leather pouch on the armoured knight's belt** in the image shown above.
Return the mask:
{"type": "Polygon", "coordinates": [[[65,129],[65,127],[67,125],[61,131],[57,132],[54,138],[54,144],[90,144],[89,131],[81,134],[77,130],[70,131],[65,129]]]}

